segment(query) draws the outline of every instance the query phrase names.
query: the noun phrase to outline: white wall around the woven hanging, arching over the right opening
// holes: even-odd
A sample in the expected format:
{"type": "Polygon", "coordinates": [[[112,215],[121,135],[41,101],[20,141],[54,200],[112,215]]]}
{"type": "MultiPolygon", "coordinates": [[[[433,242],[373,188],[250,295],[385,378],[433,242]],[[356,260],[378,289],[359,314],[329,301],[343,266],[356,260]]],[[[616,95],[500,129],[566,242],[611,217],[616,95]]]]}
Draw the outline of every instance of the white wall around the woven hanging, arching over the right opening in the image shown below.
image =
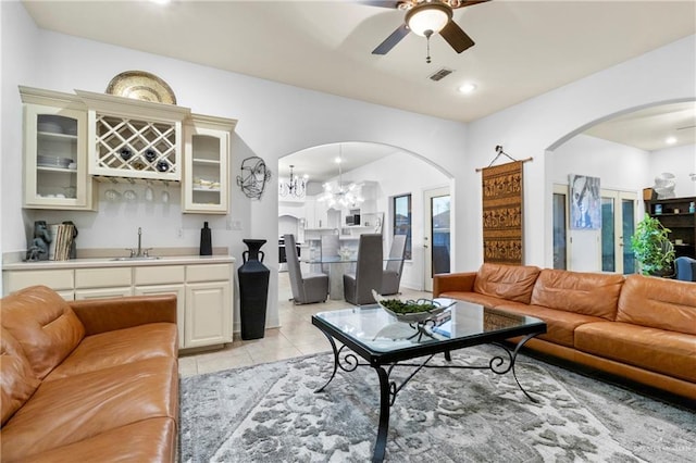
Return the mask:
{"type": "Polygon", "coordinates": [[[457,234],[457,266],[476,268],[481,246],[481,177],[501,145],[524,164],[525,262],[552,266],[552,177],[547,151],[582,133],[595,122],[662,102],[696,99],[696,36],[689,36],[469,125],[465,155],[453,172],[455,211],[467,224],[457,234]],[[468,245],[469,243],[469,245],[468,245]]]}

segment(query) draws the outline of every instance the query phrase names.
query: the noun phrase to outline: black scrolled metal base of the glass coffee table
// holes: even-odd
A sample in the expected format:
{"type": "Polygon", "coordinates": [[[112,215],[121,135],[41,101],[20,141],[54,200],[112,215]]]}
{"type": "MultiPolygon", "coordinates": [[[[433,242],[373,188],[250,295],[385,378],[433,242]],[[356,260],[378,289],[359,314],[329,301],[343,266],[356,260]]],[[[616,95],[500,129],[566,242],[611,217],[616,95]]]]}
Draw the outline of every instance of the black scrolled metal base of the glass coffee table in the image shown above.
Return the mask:
{"type": "MultiPolygon", "coordinates": [[[[322,333],[324,333],[324,336],[326,336],[328,342],[331,343],[334,353],[334,366],[331,377],[322,387],[316,389],[314,392],[323,391],[326,386],[328,386],[328,384],[334,379],[339,368],[344,372],[353,372],[356,368],[358,368],[358,366],[372,366],[377,373],[377,377],[380,378],[380,426],[377,428],[377,440],[375,442],[374,452],[372,455],[373,462],[382,462],[384,460],[387,443],[387,433],[389,430],[389,409],[391,408],[391,405],[394,405],[396,396],[422,368],[490,370],[493,373],[498,375],[505,375],[509,372],[512,372],[514,381],[517,383],[520,390],[524,392],[524,395],[531,401],[535,403],[538,402],[522,387],[514,371],[514,363],[518,352],[526,343],[526,341],[535,337],[537,333],[533,333],[522,338],[520,342],[514,346],[513,350],[510,350],[505,343],[492,342],[494,346],[502,349],[502,351],[505,352],[504,355],[507,356],[494,355],[487,365],[428,365],[428,362],[436,355],[435,353],[424,356],[424,360],[421,363],[394,362],[388,365],[370,364],[368,362],[361,362],[358,355],[350,351],[350,348],[346,345],[341,345],[340,348],[338,348],[336,346],[336,341],[330,334],[323,330],[322,333]],[[385,366],[387,366],[386,370],[385,366]],[[397,384],[395,380],[389,379],[391,372],[396,366],[412,366],[414,367],[414,370],[400,384],[397,384]]],[[[443,353],[445,354],[445,360],[447,360],[447,362],[451,362],[450,352],[445,351],[443,353]]]]}

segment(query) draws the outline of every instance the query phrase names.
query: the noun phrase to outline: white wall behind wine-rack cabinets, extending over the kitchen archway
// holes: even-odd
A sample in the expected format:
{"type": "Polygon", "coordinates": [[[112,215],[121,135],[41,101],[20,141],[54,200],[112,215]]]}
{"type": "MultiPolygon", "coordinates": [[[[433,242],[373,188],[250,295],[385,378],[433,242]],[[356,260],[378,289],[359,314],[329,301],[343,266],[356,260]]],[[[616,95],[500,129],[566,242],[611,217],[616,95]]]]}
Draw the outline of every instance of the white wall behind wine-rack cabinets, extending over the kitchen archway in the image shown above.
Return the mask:
{"type": "MultiPolygon", "coordinates": [[[[338,141],[372,141],[419,153],[451,171],[465,142],[463,124],[309,91],[239,74],[112,47],[61,34],[37,30],[21,3],[1,2],[3,21],[2,72],[2,251],[26,249],[27,230],[21,204],[22,107],[17,85],[71,92],[82,89],[101,92],[116,74],[126,70],[151,72],[174,89],[177,102],[192,111],[238,118],[233,140],[232,174],[250,155],[277,165],[277,159],[318,145],[338,141]],[[5,24],[15,27],[5,30],[5,24]],[[7,33],[7,37],[5,37],[7,33]],[[25,38],[29,40],[23,41],[25,38]],[[7,73],[15,61],[32,57],[37,68],[7,73]],[[4,101],[8,101],[5,108],[4,101]],[[403,130],[419,127],[419,130],[403,130]]],[[[272,59],[272,58],[269,58],[272,59]]],[[[275,178],[275,177],[274,177],[275,178]]],[[[213,246],[227,246],[241,263],[243,238],[277,240],[277,191],[266,190],[261,200],[247,199],[233,187],[231,218],[241,230],[227,230],[226,217],[182,216],[174,205],[105,208],[100,211],[60,213],[79,229],[78,247],[121,248],[133,245],[134,230],[141,226],[156,247],[198,246],[198,230],[204,220],[213,229],[213,246]],[[115,225],[119,224],[119,225],[115,225]],[[178,237],[183,228],[183,238],[178,237]]],[[[40,213],[44,215],[44,213],[40,213]]],[[[48,215],[48,214],[46,214],[48,215]]],[[[265,263],[277,268],[277,247],[268,246],[265,263]]],[[[271,272],[269,326],[277,325],[277,274],[271,272]]],[[[238,303],[235,303],[238,313],[238,303]]],[[[239,318],[236,317],[238,323],[239,318]]],[[[238,327],[238,325],[236,325],[238,327]]]]}

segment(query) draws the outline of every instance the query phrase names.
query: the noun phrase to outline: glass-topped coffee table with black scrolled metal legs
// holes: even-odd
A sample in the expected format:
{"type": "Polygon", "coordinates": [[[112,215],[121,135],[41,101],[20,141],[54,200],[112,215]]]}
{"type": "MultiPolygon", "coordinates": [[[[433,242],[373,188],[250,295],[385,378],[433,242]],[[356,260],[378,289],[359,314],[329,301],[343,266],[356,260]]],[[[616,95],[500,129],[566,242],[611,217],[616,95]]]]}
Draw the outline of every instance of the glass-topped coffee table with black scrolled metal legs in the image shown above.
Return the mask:
{"type": "MultiPolygon", "coordinates": [[[[444,304],[449,300],[438,300],[444,304]]],[[[502,375],[512,373],[518,387],[530,400],[536,400],[522,387],[514,373],[517,354],[526,341],[546,333],[546,323],[532,316],[518,315],[470,302],[457,302],[445,312],[420,323],[399,322],[378,305],[320,312],[312,316],[316,326],[328,338],[334,353],[331,377],[315,392],[321,392],[336,376],[338,368],[352,372],[358,366],[373,367],[380,378],[380,426],[372,456],[373,462],[384,460],[389,409],[398,392],[423,368],[490,370],[502,375]],[[506,339],[522,337],[512,348],[506,339]],[[336,341],[340,343],[337,347],[336,341]],[[467,347],[494,343],[501,348],[484,365],[428,365],[438,353],[451,362],[450,352],[467,347]],[[417,363],[407,363],[418,359],[417,363]],[[396,366],[413,371],[396,384],[389,376],[396,366]]]]}

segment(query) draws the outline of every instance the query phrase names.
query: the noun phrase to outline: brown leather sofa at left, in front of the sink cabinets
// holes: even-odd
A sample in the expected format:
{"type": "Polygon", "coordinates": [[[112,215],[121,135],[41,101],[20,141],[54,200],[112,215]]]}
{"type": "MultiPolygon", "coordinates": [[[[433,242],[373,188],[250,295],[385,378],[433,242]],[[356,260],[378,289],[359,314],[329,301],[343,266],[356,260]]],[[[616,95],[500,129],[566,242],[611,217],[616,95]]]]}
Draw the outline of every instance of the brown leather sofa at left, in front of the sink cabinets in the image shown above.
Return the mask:
{"type": "Polygon", "coordinates": [[[175,296],[0,304],[3,463],[175,460],[175,296]]]}

